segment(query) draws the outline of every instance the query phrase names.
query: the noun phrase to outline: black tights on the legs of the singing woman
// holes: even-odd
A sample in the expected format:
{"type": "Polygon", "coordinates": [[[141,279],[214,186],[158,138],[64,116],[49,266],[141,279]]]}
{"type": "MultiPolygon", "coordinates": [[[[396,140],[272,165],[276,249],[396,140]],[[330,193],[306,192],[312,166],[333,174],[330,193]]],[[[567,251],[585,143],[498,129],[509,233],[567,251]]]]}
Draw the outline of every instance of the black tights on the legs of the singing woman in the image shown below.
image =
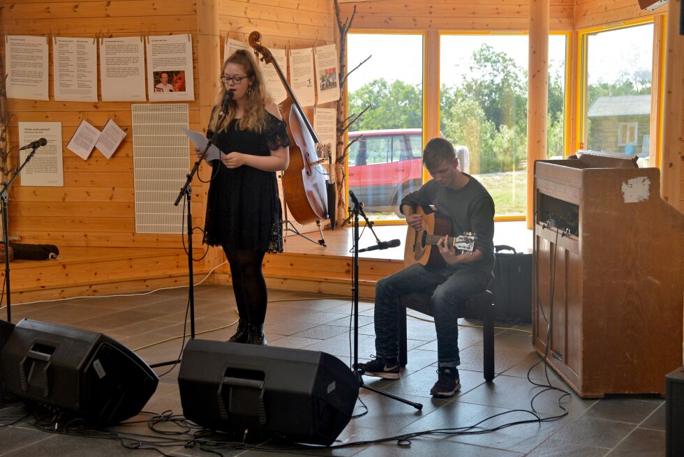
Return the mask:
{"type": "Polygon", "coordinates": [[[268,293],[266,280],[261,271],[265,252],[241,250],[223,246],[230,264],[232,287],[235,290],[237,313],[240,320],[251,325],[261,325],[266,319],[268,293]]]}

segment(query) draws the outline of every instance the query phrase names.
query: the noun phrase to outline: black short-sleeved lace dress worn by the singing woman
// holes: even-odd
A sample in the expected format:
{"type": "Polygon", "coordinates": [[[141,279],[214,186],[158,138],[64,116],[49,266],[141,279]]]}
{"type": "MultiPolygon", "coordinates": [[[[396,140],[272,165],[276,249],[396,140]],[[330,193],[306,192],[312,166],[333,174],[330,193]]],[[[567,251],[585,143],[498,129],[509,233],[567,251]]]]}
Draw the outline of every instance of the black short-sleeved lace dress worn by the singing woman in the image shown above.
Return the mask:
{"type": "MultiPolygon", "coordinates": [[[[216,135],[215,142],[225,153],[254,156],[269,156],[272,149],[290,146],[285,121],[270,113],[262,133],[240,130],[234,119],[216,135]]],[[[219,160],[213,160],[211,167],[205,242],[240,250],[283,252],[283,214],[276,173],[246,165],[228,168],[219,160]]]]}

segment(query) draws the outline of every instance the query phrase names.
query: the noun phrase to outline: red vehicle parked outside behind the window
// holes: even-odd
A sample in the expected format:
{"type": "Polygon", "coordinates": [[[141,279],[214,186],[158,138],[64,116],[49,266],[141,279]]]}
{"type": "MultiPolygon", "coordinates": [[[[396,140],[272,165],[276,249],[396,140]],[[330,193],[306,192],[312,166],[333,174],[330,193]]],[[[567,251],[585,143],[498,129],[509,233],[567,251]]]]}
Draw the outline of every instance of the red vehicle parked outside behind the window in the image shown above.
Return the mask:
{"type": "MultiPolygon", "coordinates": [[[[422,184],[422,130],[402,128],[349,133],[349,190],[366,211],[399,213],[403,195],[422,184]]],[[[461,170],[468,172],[468,148],[456,146],[461,170]]]]}

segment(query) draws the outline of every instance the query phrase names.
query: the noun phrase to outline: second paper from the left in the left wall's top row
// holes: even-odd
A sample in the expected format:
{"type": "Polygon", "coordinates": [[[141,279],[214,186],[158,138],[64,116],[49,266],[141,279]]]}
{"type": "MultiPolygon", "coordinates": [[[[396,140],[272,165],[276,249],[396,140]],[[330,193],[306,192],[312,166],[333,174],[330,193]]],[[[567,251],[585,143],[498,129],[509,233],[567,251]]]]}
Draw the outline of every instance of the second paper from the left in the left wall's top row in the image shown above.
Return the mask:
{"type": "Polygon", "coordinates": [[[98,100],[98,54],[92,38],[54,38],[52,89],[54,99],[69,102],[98,100]]]}

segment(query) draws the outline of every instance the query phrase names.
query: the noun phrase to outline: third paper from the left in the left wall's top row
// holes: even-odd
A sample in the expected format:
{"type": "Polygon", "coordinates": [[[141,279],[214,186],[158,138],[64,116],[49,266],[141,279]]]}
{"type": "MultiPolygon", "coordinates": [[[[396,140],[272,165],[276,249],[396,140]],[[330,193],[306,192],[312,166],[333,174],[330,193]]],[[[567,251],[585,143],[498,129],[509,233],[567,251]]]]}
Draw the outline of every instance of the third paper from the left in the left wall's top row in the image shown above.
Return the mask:
{"type": "Polygon", "coordinates": [[[144,56],[140,36],[100,40],[103,101],[147,101],[144,56]]]}

